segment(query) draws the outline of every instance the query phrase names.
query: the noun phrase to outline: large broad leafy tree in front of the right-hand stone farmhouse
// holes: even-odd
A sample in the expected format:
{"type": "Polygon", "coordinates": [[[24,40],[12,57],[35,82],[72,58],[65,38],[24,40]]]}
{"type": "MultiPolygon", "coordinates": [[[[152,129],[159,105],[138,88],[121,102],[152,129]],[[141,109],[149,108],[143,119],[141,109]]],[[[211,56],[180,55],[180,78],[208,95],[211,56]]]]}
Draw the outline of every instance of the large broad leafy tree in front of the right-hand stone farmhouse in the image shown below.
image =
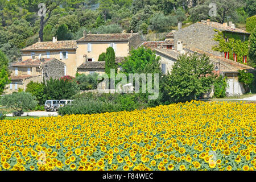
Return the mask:
{"type": "Polygon", "coordinates": [[[180,56],[164,82],[167,100],[185,102],[207,93],[214,81],[213,69],[208,56],[180,56]]]}

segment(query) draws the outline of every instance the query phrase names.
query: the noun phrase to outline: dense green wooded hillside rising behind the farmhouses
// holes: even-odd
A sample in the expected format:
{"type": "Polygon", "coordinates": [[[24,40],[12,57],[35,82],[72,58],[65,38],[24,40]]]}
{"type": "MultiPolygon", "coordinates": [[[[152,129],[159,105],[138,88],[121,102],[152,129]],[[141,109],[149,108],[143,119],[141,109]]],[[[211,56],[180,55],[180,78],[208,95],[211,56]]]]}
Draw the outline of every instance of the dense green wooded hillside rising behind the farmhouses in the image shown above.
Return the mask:
{"type": "Polygon", "coordinates": [[[170,31],[177,21],[196,22],[210,18],[218,22],[245,23],[255,14],[252,0],[51,0],[0,1],[0,50],[10,61],[20,49],[41,41],[79,39],[82,31],[94,34],[170,31]],[[217,16],[209,17],[210,2],[217,4],[217,16]],[[39,3],[46,3],[46,16],[38,16],[39,3]],[[230,18],[228,19],[228,17],[230,18]]]}

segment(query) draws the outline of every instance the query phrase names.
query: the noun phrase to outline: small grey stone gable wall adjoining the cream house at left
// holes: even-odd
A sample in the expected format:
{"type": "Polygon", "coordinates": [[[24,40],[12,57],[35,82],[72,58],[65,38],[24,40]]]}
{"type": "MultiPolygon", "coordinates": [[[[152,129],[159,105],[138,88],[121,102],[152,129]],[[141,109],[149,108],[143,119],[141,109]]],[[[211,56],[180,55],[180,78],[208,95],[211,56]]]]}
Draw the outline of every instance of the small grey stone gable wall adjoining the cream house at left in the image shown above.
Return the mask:
{"type": "Polygon", "coordinates": [[[43,64],[42,69],[44,80],[49,80],[51,77],[57,79],[65,74],[65,64],[56,59],[43,64]]]}

